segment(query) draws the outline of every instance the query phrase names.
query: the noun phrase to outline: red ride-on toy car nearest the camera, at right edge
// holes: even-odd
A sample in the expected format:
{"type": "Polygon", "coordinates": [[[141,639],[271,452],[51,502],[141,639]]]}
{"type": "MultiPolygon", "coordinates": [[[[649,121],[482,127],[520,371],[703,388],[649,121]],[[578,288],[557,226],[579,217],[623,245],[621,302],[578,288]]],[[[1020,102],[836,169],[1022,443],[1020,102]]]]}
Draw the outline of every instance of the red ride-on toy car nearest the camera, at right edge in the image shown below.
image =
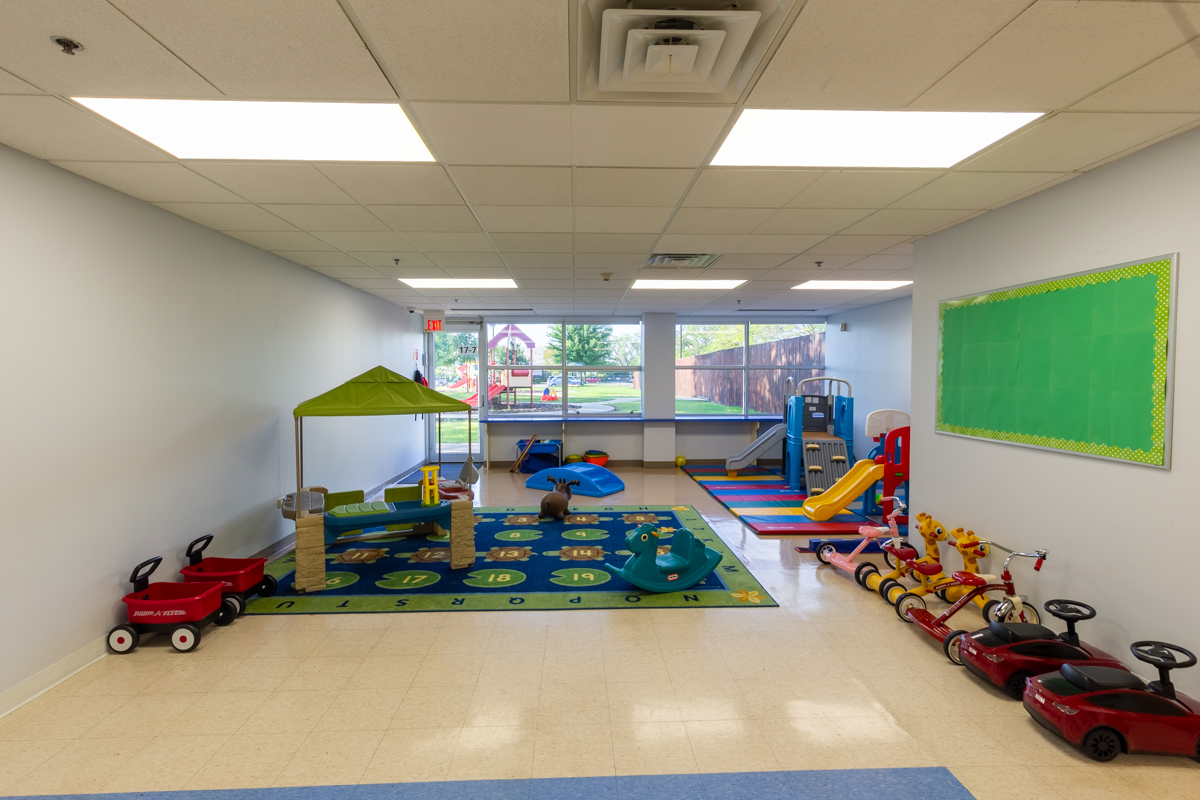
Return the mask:
{"type": "Polygon", "coordinates": [[[1158,680],[1146,684],[1124,669],[1067,663],[1026,681],[1025,710],[1098,762],[1123,752],[1200,758],[1200,703],[1177,693],[1170,680],[1171,669],[1192,667],[1196,657],[1165,642],[1134,642],[1129,649],[1158,667],[1158,680]]]}

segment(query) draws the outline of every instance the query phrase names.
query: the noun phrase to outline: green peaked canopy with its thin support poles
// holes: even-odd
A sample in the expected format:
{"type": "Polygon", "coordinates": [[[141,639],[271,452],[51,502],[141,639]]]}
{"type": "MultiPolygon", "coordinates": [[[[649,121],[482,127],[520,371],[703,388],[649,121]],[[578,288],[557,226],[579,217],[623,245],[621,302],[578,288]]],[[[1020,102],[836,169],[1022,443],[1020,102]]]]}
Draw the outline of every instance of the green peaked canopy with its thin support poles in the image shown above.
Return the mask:
{"type": "Polygon", "coordinates": [[[296,497],[299,498],[304,486],[304,417],[438,414],[438,462],[440,462],[443,411],[467,411],[469,457],[470,405],[398,375],[386,367],[367,369],[358,378],[352,378],[324,395],[300,403],[292,411],[296,429],[296,497]]]}

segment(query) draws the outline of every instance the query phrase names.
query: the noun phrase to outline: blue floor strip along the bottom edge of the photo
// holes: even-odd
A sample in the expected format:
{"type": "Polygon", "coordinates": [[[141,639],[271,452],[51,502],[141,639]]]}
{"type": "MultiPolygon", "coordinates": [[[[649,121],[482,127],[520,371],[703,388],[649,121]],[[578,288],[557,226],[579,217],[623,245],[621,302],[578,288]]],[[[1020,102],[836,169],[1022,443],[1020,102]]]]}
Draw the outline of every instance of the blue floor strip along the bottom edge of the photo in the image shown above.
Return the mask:
{"type": "Polygon", "coordinates": [[[95,800],[973,800],[944,766],[41,795],[95,800]]]}

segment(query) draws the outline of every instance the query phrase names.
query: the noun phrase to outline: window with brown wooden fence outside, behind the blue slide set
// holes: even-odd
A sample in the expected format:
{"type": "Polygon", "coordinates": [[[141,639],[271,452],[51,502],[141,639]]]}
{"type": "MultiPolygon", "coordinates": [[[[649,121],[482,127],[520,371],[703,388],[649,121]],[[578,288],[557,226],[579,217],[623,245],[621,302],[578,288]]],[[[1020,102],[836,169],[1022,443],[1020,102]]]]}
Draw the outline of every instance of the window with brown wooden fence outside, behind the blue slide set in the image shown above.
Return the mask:
{"type": "Polygon", "coordinates": [[[676,326],[677,416],[780,415],[790,385],[822,374],[824,323],[676,326]]]}

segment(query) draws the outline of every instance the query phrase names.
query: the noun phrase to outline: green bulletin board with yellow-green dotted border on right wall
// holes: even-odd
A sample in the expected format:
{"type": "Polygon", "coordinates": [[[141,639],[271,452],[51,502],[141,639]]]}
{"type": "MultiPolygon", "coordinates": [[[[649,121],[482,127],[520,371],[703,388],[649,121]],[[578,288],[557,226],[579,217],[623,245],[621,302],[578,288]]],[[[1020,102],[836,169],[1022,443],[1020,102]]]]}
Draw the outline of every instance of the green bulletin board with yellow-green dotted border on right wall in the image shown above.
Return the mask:
{"type": "Polygon", "coordinates": [[[1170,467],[1175,257],[947,300],[941,433],[1170,467]]]}

